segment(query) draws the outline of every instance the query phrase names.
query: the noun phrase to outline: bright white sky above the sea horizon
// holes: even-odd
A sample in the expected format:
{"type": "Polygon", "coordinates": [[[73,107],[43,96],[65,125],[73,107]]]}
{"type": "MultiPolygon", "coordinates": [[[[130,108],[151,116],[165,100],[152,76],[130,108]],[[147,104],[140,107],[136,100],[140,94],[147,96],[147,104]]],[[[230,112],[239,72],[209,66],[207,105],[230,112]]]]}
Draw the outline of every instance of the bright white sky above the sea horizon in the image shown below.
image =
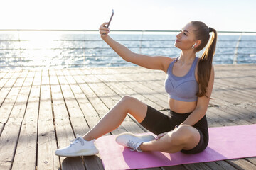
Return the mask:
{"type": "Polygon", "coordinates": [[[256,31],[255,0],[1,0],[0,29],[181,30],[203,21],[222,31],[256,31]]]}

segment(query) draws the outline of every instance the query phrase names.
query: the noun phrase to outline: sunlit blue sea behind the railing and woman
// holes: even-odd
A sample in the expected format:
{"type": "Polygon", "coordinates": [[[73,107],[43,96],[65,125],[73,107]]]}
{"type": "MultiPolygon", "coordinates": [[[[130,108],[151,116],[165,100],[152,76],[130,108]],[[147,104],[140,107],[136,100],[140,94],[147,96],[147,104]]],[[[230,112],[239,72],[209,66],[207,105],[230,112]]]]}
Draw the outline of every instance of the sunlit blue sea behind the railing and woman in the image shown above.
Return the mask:
{"type": "MultiPolygon", "coordinates": [[[[112,33],[133,52],[178,57],[176,33],[112,33]]],[[[203,50],[198,52],[201,56],[203,50]]],[[[256,34],[218,35],[213,64],[256,63],[256,34]]],[[[16,31],[0,33],[0,69],[130,67],[95,32],[16,31]]]]}

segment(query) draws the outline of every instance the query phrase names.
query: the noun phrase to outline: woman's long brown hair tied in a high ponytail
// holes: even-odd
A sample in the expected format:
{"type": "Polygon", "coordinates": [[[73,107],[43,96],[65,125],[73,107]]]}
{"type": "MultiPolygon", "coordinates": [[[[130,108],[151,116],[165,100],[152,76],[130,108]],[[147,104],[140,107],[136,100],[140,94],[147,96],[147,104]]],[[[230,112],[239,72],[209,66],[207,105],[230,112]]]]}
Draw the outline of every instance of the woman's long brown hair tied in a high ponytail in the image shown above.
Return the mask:
{"type": "MultiPolygon", "coordinates": [[[[198,82],[199,91],[196,94],[198,97],[206,96],[208,82],[210,80],[210,72],[213,64],[213,55],[215,54],[217,31],[213,28],[208,28],[205,23],[201,21],[191,21],[194,28],[193,33],[196,35],[197,40],[201,40],[201,44],[195,48],[196,52],[206,47],[208,40],[208,46],[201,56],[201,60],[198,62],[198,82]],[[213,32],[210,38],[210,32],[213,32]]],[[[206,96],[208,97],[208,96],[206,96]]],[[[209,98],[209,97],[208,97],[209,98]]]]}

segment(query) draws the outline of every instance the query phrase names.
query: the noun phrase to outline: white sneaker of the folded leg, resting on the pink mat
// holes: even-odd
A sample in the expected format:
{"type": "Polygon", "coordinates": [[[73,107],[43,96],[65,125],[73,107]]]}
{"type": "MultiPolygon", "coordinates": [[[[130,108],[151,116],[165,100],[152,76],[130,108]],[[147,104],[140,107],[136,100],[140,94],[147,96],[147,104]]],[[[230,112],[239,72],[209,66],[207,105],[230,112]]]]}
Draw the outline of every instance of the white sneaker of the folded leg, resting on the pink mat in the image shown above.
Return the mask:
{"type": "Polygon", "coordinates": [[[142,152],[142,150],[139,149],[139,145],[141,145],[142,142],[149,142],[154,139],[155,137],[149,134],[134,135],[132,133],[125,132],[116,137],[116,142],[119,145],[131,148],[132,151],[137,150],[137,152],[142,152]]]}

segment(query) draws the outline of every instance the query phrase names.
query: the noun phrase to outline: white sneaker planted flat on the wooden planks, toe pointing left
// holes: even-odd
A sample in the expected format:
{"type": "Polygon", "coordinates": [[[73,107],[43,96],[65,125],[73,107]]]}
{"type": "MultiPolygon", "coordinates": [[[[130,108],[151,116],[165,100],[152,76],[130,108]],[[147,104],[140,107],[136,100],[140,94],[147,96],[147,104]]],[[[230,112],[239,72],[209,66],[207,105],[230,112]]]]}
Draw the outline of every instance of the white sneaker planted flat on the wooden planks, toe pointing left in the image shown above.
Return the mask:
{"type": "Polygon", "coordinates": [[[60,157],[90,156],[99,153],[95,147],[95,140],[86,141],[82,137],[77,137],[68,147],[57,149],[55,154],[60,157]]]}

